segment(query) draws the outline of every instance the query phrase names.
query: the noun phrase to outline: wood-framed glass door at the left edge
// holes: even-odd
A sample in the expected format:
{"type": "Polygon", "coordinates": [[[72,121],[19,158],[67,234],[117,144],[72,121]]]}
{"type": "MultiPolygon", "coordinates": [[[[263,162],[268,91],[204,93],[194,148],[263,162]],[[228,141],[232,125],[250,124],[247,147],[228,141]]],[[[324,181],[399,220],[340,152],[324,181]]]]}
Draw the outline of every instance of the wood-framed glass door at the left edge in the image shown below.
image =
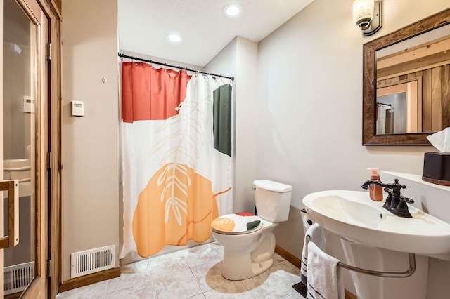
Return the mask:
{"type": "MultiPolygon", "coordinates": [[[[25,234],[17,248],[23,244],[30,248],[20,252],[16,248],[5,249],[0,259],[5,263],[4,255],[8,254],[12,260],[21,260],[24,252],[30,259],[27,263],[31,270],[27,271],[31,274],[25,277],[25,285],[13,288],[14,293],[8,289],[9,296],[22,294],[24,298],[46,298],[49,293],[47,207],[51,181],[48,157],[51,145],[47,60],[49,19],[37,0],[3,0],[2,5],[2,174],[18,179],[19,227],[22,228],[19,230],[25,234]],[[17,164],[19,161],[23,164],[17,164]],[[25,199],[27,205],[22,204],[25,199]]],[[[21,265],[23,263],[17,267],[21,265]]],[[[9,272],[4,270],[1,273],[6,275],[9,272]]],[[[8,281],[16,278],[11,275],[5,279],[4,289],[8,281]]]]}

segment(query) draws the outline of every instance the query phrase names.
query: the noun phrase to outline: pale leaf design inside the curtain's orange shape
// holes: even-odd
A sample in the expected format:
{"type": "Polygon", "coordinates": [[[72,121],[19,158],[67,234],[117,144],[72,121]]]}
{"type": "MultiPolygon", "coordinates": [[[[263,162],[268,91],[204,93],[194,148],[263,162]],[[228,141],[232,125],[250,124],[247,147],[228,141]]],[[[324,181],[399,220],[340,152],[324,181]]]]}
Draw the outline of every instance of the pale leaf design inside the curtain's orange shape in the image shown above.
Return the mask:
{"type": "Polygon", "coordinates": [[[181,211],[185,214],[188,212],[188,204],[186,204],[186,197],[188,196],[188,186],[191,185],[191,178],[188,175],[188,167],[184,164],[167,164],[167,167],[162,171],[161,175],[158,177],[158,186],[163,185],[164,188],[161,192],[160,201],[165,201],[165,213],[164,221],[167,223],[169,221],[170,210],[174,212],[176,222],[181,225],[181,211]],[[180,180],[179,176],[185,178],[187,184],[180,180]],[[175,190],[181,191],[185,195],[184,199],[176,197],[175,190]],[[167,191],[169,192],[169,197],[166,199],[167,191]]]}

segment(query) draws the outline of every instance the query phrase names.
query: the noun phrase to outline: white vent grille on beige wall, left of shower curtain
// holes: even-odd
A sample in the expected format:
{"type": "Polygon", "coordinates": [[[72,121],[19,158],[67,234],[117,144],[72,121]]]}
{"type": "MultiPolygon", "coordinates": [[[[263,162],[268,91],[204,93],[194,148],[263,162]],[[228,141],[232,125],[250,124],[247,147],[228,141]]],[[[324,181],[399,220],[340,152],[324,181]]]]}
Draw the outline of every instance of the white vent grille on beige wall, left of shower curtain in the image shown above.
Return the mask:
{"type": "Polygon", "coordinates": [[[71,278],[111,269],[115,263],[115,246],[70,253],[70,262],[71,278]]]}

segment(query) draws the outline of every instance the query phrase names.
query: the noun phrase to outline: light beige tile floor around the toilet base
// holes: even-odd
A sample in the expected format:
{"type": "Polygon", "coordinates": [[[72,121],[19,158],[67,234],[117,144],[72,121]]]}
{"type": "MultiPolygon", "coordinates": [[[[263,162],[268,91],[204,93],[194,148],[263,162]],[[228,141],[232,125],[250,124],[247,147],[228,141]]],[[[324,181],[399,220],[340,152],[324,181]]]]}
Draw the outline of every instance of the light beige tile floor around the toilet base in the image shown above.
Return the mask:
{"type": "Polygon", "coordinates": [[[300,298],[293,284],[300,270],[274,253],[274,265],[257,277],[230,281],[221,276],[223,247],[204,244],[122,266],[120,277],[59,293],[65,298],[205,299],[300,298]]]}

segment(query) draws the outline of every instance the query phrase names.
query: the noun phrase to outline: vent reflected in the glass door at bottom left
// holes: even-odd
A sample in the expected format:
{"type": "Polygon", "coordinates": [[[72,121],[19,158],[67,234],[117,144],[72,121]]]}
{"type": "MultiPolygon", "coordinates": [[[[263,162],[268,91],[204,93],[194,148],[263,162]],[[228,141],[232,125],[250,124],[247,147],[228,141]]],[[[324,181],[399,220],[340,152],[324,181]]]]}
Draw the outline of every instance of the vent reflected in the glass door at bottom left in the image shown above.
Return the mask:
{"type": "Polygon", "coordinates": [[[28,262],[3,269],[4,295],[19,293],[30,284],[34,277],[34,262],[28,262]]]}

